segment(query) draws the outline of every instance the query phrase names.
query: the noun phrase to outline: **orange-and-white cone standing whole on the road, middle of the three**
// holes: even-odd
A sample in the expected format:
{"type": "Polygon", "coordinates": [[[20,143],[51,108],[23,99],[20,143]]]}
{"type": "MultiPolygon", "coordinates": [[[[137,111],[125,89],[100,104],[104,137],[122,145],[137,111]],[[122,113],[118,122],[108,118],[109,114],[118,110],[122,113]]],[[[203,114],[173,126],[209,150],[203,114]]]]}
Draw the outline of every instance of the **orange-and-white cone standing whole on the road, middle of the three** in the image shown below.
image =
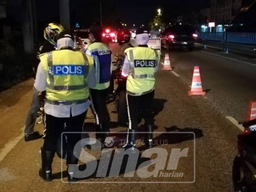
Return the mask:
{"type": "Polygon", "coordinates": [[[188,91],[188,95],[206,95],[206,92],[203,91],[202,88],[202,82],[200,77],[200,71],[199,66],[194,66],[194,74],[193,74],[193,80],[191,85],[191,90],[188,91]]]}

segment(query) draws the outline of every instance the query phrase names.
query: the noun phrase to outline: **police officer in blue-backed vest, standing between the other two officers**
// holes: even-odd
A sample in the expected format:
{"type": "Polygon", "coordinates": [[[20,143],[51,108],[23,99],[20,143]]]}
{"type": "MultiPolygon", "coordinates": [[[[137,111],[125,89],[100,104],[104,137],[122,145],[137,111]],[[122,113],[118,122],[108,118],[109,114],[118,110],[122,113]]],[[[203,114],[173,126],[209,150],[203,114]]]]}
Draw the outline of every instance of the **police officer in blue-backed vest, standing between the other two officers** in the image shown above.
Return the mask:
{"type": "MultiPolygon", "coordinates": [[[[111,77],[111,51],[102,43],[103,29],[101,25],[94,24],[89,33],[90,44],[86,54],[94,58],[94,69],[96,71],[95,87],[90,89],[92,108],[96,118],[96,132],[108,132],[110,128],[110,115],[107,111],[106,98],[110,86],[111,77]]],[[[96,133],[96,139],[101,141],[104,147],[105,134],[96,133]]]]}

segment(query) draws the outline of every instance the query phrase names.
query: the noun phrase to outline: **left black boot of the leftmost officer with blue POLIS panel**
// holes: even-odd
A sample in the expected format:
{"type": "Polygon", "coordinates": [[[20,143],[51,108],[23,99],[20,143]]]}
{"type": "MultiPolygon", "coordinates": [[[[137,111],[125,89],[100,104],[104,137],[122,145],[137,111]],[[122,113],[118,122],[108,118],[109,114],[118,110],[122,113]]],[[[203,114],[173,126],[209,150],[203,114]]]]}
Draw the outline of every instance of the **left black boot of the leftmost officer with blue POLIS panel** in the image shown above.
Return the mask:
{"type": "Polygon", "coordinates": [[[39,171],[39,176],[47,182],[53,180],[52,163],[54,154],[55,151],[45,151],[41,148],[42,168],[39,171]]]}

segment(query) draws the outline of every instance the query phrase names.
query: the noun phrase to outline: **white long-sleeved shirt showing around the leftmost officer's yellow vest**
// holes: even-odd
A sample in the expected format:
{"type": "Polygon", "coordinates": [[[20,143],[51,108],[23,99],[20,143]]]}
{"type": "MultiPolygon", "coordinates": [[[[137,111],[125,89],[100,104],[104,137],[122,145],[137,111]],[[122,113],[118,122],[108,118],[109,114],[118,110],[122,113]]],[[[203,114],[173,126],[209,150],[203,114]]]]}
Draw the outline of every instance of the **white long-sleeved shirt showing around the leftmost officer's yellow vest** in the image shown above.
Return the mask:
{"type": "MultiPolygon", "coordinates": [[[[88,75],[88,87],[95,87],[96,73],[94,67],[92,67],[88,75]]],[[[41,63],[39,63],[37,69],[34,88],[37,91],[44,91],[46,89],[46,71],[43,70],[41,63]]],[[[72,114],[72,117],[74,117],[85,112],[90,105],[91,101],[87,101],[86,103],[78,105],[51,105],[46,102],[44,105],[44,111],[46,114],[52,115],[54,117],[70,117],[70,114],[72,114]]]]}

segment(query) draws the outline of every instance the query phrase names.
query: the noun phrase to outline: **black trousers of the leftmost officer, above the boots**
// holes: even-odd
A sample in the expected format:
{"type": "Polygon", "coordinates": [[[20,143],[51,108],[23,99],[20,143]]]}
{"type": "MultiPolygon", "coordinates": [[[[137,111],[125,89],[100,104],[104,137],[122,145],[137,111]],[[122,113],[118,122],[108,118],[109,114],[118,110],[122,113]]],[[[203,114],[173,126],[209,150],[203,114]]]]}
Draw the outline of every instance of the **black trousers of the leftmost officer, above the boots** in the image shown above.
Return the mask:
{"type": "MultiPolygon", "coordinates": [[[[86,112],[69,118],[53,117],[46,114],[43,149],[45,151],[56,151],[57,141],[63,132],[82,132],[85,116],[86,112]]],[[[67,150],[73,151],[75,144],[81,139],[81,134],[66,134],[66,138],[67,150]]]]}

